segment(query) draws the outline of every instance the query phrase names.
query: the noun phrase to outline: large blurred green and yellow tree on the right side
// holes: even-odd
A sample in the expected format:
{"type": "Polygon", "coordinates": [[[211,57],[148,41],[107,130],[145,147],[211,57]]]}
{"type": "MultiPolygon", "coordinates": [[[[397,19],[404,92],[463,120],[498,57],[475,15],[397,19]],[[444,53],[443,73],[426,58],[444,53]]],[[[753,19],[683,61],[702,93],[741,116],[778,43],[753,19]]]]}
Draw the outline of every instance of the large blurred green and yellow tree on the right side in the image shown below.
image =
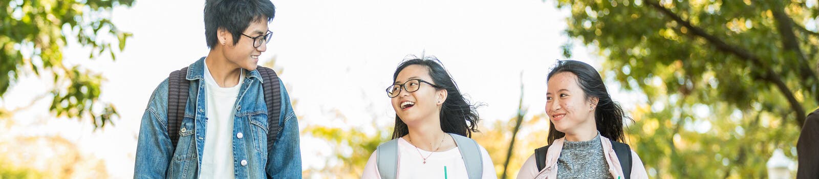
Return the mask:
{"type": "Polygon", "coordinates": [[[819,103],[816,1],[557,2],[604,76],[645,94],[627,134],[649,176],[758,178],[795,156],[819,103]]]}

